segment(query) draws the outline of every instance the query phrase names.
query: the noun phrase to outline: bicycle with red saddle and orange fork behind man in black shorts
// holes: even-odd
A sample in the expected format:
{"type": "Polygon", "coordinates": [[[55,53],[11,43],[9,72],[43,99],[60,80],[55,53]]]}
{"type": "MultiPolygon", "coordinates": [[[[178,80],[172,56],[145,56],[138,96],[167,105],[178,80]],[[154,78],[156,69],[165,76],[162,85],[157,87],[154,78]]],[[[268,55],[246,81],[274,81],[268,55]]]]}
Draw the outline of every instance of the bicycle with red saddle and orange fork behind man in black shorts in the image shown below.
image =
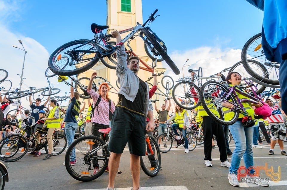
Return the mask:
{"type": "MultiPolygon", "coordinates": [[[[109,135],[111,128],[100,129],[99,131],[104,135],[109,135]]],[[[141,168],[144,173],[150,177],[154,177],[158,174],[161,166],[161,154],[155,139],[146,135],[146,156],[141,156],[141,168]],[[152,166],[149,158],[152,159],[152,163],[156,166],[152,166]]],[[[79,181],[91,181],[100,177],[106,167],[108,166],[110,153],[107,150],[109,141],[103,141],[101,138],[88,135],[79,137],[68,148],[65,155],[65,166],[68,173],[76,180],[79,181]],[[94,147],[94,148],[93,148],[94,147]],[[70,155],[72,150],[76,150],[77,164],[71,166],[70,155]],[[99,170],[94,173],[93,161],[99,165],[99,170]]]]}

